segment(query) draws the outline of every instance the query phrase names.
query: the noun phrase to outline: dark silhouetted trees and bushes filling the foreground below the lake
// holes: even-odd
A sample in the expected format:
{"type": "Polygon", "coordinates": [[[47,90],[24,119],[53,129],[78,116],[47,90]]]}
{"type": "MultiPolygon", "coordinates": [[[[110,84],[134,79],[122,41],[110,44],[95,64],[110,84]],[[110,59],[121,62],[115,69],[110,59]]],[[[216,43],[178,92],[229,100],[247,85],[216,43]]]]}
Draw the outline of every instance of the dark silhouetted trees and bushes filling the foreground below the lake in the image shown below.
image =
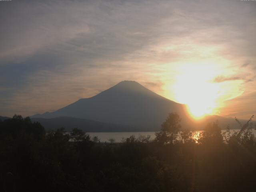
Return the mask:
{"type": "Polygon", "coordinates": [[[46,133],[15,115],[0,122],[0,191],[255,191],[250,122],[233,135],[212,123],[194,140],[192,132],[180,131],[179,116],[169,114],[154,141],[131,136],[101,144],[82,130],[46,133]]]}

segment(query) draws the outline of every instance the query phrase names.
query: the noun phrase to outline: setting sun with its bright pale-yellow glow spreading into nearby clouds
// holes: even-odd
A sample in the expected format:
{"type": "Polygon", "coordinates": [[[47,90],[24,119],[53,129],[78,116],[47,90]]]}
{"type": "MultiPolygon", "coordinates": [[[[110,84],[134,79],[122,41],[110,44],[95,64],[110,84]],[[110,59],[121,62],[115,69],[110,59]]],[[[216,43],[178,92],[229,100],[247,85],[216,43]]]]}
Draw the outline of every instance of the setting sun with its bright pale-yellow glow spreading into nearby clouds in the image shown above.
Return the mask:
{"type": "MultiPolygon", "coordinates": [[[[234,71],[220,61],[179,62],[171,71],[172,81],[163,87],[166,97],[186,104],[187,111],[194,119],[206,115],[221,115],[225,102],[243,94],[242,80],[217,81],[218,77],[234,76],[234,71]]],[[[169,69],[168,69],[169,70],[169,69]]],[[[228,79],[228,78],[226,78],[228,79]]]]}

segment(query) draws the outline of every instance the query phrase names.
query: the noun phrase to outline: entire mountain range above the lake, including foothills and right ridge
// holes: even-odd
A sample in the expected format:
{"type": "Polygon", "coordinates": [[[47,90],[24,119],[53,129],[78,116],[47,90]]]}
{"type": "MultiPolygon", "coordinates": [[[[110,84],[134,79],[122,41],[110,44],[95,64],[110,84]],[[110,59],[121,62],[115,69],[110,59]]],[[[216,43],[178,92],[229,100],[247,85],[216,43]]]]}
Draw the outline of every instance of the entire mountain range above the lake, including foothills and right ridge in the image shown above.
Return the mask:
{"type": "MultiPolygon", "coordinates": [[[[48,126],[50,126],[50,122],[56,124],[59,120],[66,122],[64,126],[67,126],[68,122],[70,122],[70,127],[79,124],[85,128],[82,124],[87,124],[89,128],[95,124],[95,126],[92,126],[95,128],[95,131],[113,130],[108,126],[110,124],[115,125],[114,130],[117,131],[122,131],[126,128],[130,128],[131,131],[158,131],[170,112],[176,112],[180,115],[182,118],[182,128],[202,130],[208,122],[216,120],[218,120],[222,129],[226,128],[228,124],[230,128],[239,128],[234,119],[216,115],[207,116],[200,121],[195,121],[188,115],[184,104],[168,100],[135,81],[122,81],[96,96],[80,99],[55,112],[36,114],[32,118],[40,118],[38,121],[48,126]],[[69,117],[69,119],[60,119],[60,117],[69,117]],[[55,119],[43,120],[51,118],[55,119]],[[84,121],[81,119],[84,119],[84,121]],[[89,120],[93,123],[89,123],[89,120]],[[76,123],[76,121],[79,123],[76,123]],[[104,129],[96,128],[100,123],[106,123],[103,126],[104,129]],[[122,129],[120,125],[125,128],[122,129]],[[120,129],[118,128],[119,126],[120,129]]],[[[244,123],[246,121],[241,120],[241,122],[244,123]]]]}

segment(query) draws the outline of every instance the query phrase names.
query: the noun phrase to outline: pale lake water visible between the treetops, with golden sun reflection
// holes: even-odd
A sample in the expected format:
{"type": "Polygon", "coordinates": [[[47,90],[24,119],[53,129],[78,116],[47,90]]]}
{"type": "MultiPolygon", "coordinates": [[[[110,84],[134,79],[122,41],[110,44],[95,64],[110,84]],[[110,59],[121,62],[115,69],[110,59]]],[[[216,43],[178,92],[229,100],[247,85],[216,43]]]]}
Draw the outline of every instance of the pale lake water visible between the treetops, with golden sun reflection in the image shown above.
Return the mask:
{"type": "MultiPolygon", "coordinates": [[[[226,130],[222,130],[224,132],[226,130]]],[[[234,131],[239,130],[230,130],[231,134],[234,131]]],[[[193,138],[197,139],[202,131],[194,131],[193,138]]],[[[253,130],[254,135],[256,135],[256,130],[253,130]]],[[[123,138],[128,138],[134,135],[136,138],[140,136],[150,136],[150,140],[154,140],[156,138],[155,132],[89,132],[88,133],[91,138],[94,136],[98,136],[100,142],[109,142],[109,139],[114,139],[114,142],[122,142],[123,138]]]]}

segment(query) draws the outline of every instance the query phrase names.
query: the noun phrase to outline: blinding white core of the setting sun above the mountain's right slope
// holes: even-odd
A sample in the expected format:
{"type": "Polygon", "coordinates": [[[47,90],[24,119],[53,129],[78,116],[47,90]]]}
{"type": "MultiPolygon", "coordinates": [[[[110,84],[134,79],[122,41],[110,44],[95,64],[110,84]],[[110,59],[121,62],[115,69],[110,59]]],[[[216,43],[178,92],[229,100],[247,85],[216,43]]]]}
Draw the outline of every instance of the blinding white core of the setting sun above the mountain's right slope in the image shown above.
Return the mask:
{"type": "Polygon", "coordinates": [[[218,72],[210,66],[186,66],[173,86],[177,102],[186,104],[190,115],[200,119],[218,107],[221,87],[212,83],[218,72]]]}

